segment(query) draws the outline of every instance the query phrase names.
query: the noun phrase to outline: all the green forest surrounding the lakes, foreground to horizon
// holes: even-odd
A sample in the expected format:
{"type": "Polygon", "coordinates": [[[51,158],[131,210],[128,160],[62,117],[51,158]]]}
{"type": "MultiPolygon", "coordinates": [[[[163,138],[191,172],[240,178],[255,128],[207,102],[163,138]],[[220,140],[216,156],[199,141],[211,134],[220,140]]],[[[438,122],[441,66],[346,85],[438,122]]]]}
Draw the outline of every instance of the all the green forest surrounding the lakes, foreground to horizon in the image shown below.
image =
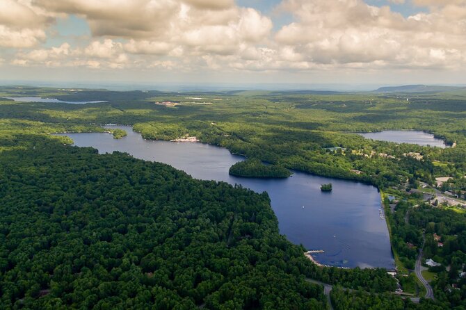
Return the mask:
{"type": "MultiPolygon", "coordinates": [[[[305,281],[311,278],[358,290],[332,291],[335,309],[364,309],[364,303],[367,309],[464,309],[466,284],[457,274],[466,261],[465,213],[424,204],[408,190],[449,176],[441,190],[465,197],[465,119],[466,95],[460,92],[183,94],[0,87],[1,306],[323,309],[323,288],[305,281]],[[186,99],[192,95],[210,104],[186,99]],[[106,102],[22,103],[2,96],[106,102]],[[280,170],[402,188],[396,193],[403,199],[393,213],[386,212],[392,246],[405,268],[412,268],[423,245],[425,258],[442,263],[429,270],[436,300],[413,304],[380,294],[396,288],[385,270],[317,268],[303,247],[280,236],[266,194],[195,181],[127,154],[98,155],[49,134],[102,132],[108,123],[133,125],[150,139],[196,136],[280,170]],[[427,131],[454,147],[354,134],[383,129],[427,131]],[[433,241],[434,233],[443,247],[433,241]]],[[[262,163],[252,166],[263,171],[262,163]]],[[[398,280],[407,291],[419,288],[412,275],[398,280]]]]}

